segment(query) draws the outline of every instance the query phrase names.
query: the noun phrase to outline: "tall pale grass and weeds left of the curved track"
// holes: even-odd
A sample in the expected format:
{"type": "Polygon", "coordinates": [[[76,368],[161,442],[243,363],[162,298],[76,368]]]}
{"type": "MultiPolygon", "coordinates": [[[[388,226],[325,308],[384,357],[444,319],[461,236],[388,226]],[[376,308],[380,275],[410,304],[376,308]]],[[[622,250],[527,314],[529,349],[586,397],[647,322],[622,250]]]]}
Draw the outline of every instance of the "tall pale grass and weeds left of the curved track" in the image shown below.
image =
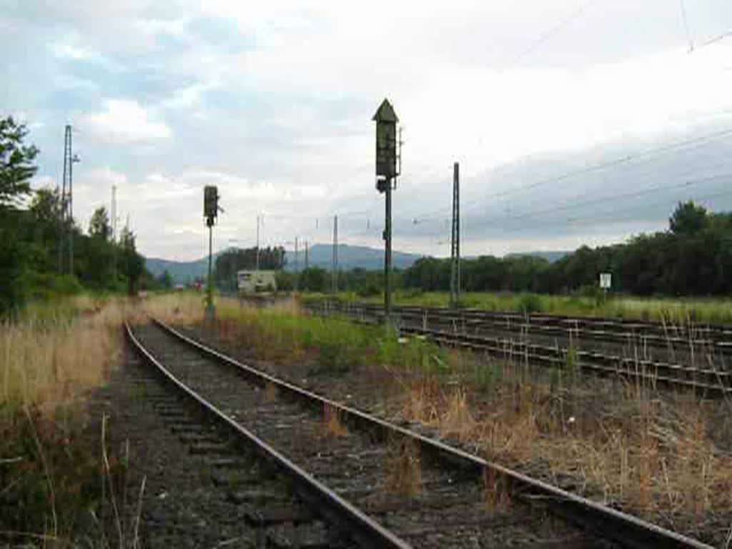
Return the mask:
{"type": "Polygon", "coordinates": [[[79,296],[0,324],[0,530],[26,532],[13,542],[61,543],[92,516],[100,463],[84,404],[119,362],[126,308],[79,296]]]}

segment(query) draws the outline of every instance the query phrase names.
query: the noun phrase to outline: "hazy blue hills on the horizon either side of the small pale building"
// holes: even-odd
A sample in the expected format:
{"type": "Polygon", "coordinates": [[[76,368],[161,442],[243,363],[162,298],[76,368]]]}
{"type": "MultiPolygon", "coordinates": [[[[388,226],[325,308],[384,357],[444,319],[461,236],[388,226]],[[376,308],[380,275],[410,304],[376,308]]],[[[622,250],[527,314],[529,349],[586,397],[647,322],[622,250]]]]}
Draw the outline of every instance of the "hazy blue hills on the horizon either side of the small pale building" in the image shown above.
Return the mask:
{"type": "MultiPolygon", "coordinates": [[[[214,261],[222,250],[214,254],[214,261]]],[[[300,250],[299,268],[305,268],[305,250],[300,250]]],[[[330,269],[333,257],[333,247],[329,244],[314,244],[307,252],[308,264],[323,269],[330,269]]],[[[406,269],[422,257],[413,253],[392,252],[392,264],[395,269],[406,269]]],[[[295,267],[295,254],[285,252],[287,264],[285,269],[291,271],[295,267]]],[[[207,257],[195,261],[171,261],[161,258],[146,258],[146,267],[152,275],[159,277],[167,269],[173,277],[174,284],[187,284],[197,277],[205,277],[209,268],[207,257]]],[[[338,244],[338,267],[340,269],[382,269],[384,267],[384,250],[377,250],[367,246],[349,246],[338,244]]]]}

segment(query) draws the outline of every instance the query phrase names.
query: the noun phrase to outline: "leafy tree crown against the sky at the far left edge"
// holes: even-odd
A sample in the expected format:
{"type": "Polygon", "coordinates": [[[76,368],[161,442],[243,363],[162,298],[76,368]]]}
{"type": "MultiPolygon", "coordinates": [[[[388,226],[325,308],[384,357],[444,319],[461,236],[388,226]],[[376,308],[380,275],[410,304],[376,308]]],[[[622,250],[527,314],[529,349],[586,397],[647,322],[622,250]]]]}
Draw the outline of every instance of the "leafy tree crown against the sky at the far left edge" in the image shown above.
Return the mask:
{"type": "Polygon", "coordinates": [[[28,130],[9,116],[0,119],[0,210],[17,209],[31,193],[30,179],[37,171],[35,146],[24,146],[28,130]]]}

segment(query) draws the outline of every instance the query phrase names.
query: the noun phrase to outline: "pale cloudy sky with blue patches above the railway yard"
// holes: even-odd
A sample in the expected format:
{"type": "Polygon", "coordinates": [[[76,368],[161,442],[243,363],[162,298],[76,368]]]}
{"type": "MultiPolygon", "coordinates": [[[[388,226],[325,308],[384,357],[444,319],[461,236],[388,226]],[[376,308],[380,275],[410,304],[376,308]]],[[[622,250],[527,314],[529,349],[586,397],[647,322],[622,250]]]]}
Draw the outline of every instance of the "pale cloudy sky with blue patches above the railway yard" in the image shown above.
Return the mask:
{"type": "Polygon", "coordinates": [[[75,217],[118,189],[149,256],[296,236],[379,247],[373,122],[403,125],[395,248],[449,254],[460,162],[468,254],[571,249],[732,209],[729,0],[0,0],[0,116],[62,171],[75,217]]]}

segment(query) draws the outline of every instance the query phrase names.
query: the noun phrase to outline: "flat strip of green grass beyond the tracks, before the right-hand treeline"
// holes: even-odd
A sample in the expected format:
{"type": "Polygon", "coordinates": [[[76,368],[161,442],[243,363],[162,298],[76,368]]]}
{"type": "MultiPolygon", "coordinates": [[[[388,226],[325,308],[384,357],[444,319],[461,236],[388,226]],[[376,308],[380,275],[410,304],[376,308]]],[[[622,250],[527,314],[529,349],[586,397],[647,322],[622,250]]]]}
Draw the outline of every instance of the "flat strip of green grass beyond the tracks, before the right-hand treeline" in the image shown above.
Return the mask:
{"type": "MultiPolygon", "coordinates": [[[[328,294],[304,294],[305,299],[326,298],[328,294]]],[[[341,292],[337,299],[354,302],[383,303],[383,296],[360,297],[341,292]]],[[[447,307],[447,292],[396,291],[396,305],[447,307]]],[[[732,298],[642,298],[610,296],[598,301],[586,296],[555,296],[543,294],[511,294],[466,292],[460,295],[460,305],[495,311],[520,311],[567,316],[633,318],[667,321],[676,324],[694,322],[732,323],[732,298]]]]}

